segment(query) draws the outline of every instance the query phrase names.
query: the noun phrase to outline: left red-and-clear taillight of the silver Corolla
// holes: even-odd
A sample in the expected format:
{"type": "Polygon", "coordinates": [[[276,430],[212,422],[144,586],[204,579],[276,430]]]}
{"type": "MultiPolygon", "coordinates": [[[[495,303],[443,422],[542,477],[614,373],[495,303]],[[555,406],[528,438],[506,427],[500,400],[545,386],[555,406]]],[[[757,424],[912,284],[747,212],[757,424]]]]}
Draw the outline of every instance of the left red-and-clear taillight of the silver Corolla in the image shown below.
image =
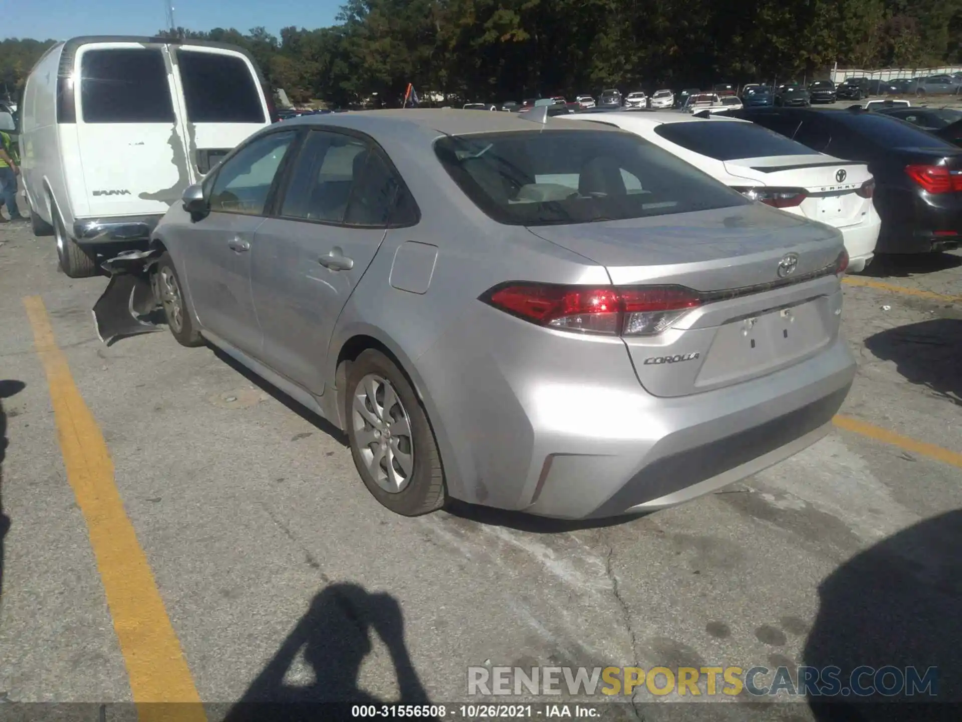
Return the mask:
{"type": "Polygon", "coordinates": [[[559,286],[507,283],[481,297],[485,303],[548,328],[609,336],[661,333],[701,305],[683,286],[559,286]]]}

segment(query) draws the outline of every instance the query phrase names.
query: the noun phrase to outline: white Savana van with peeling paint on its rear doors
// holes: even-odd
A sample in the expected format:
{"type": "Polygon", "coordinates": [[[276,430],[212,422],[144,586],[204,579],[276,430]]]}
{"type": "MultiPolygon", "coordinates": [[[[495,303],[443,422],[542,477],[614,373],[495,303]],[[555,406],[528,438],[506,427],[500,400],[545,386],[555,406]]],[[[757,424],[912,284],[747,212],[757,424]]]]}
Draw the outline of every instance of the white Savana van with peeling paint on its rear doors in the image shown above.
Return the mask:
{"type": "Polygon", "coordinates": [[[276,120],[241,48],[90,36],[59,42],[27,77],[20,162],[38,236],[71,278],[149,239],[190,184],[276,120]]]}

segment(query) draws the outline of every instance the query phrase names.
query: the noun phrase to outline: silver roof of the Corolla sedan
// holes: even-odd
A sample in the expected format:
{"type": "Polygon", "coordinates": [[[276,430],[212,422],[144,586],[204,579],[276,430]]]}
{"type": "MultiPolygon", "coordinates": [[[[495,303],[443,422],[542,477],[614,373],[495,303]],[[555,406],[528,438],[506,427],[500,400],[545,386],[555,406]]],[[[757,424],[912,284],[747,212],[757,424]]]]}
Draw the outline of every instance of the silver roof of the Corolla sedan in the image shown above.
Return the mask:
{"type": "MultiPolygon", "coordinates": [[[[546,107],[546,106],[545,106],[546,107]]],[[[529,111],[533,113],[534,111],[529,111]]],[[[443,135],[460,136],[469,133],[499,133],[510,131],[538,130],[539,128],[566,128],[555,117],[548,117],[544,126],[528,119],[527,114],[478,113],[446,108],[409,108],[388,111],[357,111],[327,116],[302,116],[285,123],[305,125],[337,125],[353,128],[366,133],[392,134],[403,133],[404,129],[418,128],[435,131],[443,135]]]]}

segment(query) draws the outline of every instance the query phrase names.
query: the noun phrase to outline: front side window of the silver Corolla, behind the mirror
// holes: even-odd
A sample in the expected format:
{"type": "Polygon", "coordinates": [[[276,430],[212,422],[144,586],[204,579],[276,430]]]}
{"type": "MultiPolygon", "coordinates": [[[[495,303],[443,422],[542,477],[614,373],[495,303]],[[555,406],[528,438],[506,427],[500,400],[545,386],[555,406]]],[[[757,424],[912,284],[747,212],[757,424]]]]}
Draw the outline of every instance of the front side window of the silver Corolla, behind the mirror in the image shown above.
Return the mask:
{"type": "Polygon", "coordinates": [[[271,133],[224,161],[211,189],[211,210],[263,216],[267,196],[296,131],[271,133]]]}

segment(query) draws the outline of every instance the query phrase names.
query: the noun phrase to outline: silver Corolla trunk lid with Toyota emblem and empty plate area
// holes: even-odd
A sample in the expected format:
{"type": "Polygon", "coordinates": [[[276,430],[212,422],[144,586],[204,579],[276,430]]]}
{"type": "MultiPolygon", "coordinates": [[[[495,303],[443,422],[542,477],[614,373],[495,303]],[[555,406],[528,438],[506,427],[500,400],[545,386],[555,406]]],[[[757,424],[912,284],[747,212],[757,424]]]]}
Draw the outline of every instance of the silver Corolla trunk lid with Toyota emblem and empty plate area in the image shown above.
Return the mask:
{"type": "Polygon", "coordinates": [[[679,397],[770,374],[836,337],[837,231],[762,205],[533,233],[603,265],[618,286],[680,285],[701,304],[655,336],[625,336],[639,381],[679,397]]]}

